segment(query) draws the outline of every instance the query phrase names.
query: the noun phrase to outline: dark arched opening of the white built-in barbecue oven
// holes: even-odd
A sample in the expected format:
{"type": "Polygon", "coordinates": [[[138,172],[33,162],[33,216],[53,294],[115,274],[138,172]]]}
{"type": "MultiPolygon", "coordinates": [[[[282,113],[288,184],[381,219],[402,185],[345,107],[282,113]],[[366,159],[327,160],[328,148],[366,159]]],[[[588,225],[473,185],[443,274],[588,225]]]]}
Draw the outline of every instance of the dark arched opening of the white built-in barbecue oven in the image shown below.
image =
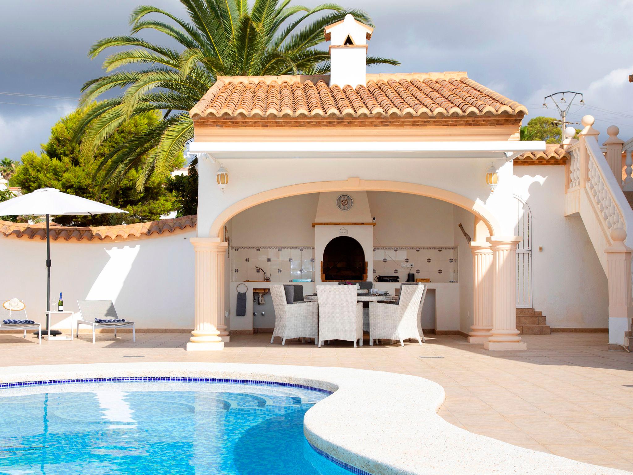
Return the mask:
{"type": "Polygon", "coordinates": [[[332,239],[323,250],[322,281],[366,281],[367,260],[363,246],[349,236],[332,239]]]}

